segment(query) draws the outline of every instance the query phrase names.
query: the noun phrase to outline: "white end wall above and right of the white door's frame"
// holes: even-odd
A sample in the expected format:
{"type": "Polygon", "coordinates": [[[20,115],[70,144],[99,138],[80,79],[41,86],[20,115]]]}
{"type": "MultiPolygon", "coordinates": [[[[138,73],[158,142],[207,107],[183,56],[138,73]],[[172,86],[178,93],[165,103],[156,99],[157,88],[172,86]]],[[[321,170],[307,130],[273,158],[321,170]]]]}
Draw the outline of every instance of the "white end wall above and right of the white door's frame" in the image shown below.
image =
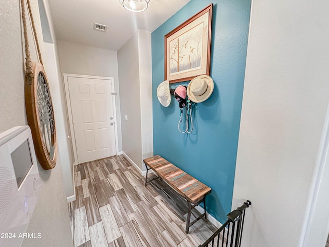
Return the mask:
{"type": "MultiPolygon", "coordinates": [[[[119,95],[117,52],[92,46],[58,41],[60,64],[63,73],[107,76],[114,78],[114,90],[119,95]]],[[[116,100],[116,125],[118,129],[118,149],[122,151],[120,99],[116,100]]]]}

